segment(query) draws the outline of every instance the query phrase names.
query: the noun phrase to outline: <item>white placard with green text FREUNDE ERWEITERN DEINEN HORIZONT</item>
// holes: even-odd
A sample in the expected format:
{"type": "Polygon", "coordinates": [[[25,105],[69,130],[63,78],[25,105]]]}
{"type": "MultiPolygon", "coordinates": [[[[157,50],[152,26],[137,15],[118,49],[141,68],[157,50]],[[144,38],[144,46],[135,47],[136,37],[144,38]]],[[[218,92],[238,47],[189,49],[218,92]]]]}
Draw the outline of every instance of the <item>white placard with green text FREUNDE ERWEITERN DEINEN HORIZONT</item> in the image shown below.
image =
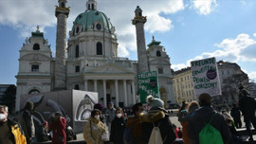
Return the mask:
{"type": "Polygon", "coordinates": [[[202,93],[208,93],[211,97],[221,95],[216,59],[203,59],[193,61],[191,64],[194,95],[196,97],[202,93]]]}

